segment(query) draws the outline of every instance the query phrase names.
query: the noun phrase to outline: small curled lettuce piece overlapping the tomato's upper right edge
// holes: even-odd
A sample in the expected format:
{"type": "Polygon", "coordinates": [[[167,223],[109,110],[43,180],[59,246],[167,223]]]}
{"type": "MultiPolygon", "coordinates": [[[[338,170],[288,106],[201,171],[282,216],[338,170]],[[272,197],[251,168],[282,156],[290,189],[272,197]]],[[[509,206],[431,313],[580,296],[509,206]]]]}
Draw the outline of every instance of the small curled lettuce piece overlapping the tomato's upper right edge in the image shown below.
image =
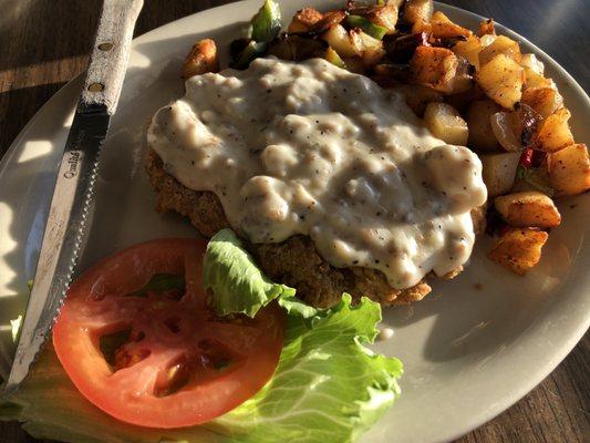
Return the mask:
{"type": "Polygon", "coordinates": [[[296,290],[270,281],[258,269],[231,229],[217,233],[207,245],[203,261],[205,289],[211,289],[211,307],[219,316],[245,313],[255,317],[278,297],[293,297],[296,290]]]}

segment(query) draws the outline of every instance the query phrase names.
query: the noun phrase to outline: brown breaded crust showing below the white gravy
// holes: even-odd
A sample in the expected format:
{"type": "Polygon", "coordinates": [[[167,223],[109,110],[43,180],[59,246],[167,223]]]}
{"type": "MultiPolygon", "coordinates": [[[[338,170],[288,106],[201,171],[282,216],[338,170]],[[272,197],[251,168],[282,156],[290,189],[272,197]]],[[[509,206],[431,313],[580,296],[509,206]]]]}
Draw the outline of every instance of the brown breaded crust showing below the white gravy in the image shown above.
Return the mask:
{"type": "MultiPolygon", "coordinates": [[[[146,171],[157,193],[156,210],[174,210],[188,217],[205,237],[229,227],[217,196],[184,187],[164,171],[162,159],[153,150],[147,153],[146,171]]],[[[247,244],[247,248],[267,276],[297,288],[298,296],[315,307],[334,305],[342,292],[356,300],[366,296],[382,305],[406,305],[421,300],[431,291],[424,280],[412,288],[394,289],[380,270],[335,268],[320,257],[307,236],[296,235],[279,244],[247,244]]],[[[456,274],[445,277],[452,278],[456,274]]]]}

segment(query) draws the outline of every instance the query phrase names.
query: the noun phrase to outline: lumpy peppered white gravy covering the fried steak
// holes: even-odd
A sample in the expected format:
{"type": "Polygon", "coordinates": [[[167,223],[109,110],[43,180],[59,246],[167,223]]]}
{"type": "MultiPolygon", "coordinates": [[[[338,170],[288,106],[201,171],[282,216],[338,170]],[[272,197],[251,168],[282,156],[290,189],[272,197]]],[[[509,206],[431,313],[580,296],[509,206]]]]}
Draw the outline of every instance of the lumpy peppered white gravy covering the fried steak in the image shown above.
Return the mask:
{"type": "Polygon", "coordinates": [[[400,289],[465,264],[469,212],[486,199],[474,153],[433,137],[398,93],[320,59],[194,76],[147,142],[250,241],[308,235],[331,265],[379,269],[400,289]]]}

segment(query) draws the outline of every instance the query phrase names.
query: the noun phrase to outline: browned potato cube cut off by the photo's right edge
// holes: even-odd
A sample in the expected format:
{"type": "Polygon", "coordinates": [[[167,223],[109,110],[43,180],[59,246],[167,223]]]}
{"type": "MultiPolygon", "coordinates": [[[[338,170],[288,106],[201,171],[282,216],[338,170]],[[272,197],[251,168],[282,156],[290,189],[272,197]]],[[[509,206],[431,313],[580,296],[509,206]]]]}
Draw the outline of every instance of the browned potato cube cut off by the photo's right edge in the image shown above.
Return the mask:
{"type": "Polygon", "coordinates": [[[557,196],[581,194],[590,189],[590,158],[583,143],[548,155],[549,182],[557,196]]]}

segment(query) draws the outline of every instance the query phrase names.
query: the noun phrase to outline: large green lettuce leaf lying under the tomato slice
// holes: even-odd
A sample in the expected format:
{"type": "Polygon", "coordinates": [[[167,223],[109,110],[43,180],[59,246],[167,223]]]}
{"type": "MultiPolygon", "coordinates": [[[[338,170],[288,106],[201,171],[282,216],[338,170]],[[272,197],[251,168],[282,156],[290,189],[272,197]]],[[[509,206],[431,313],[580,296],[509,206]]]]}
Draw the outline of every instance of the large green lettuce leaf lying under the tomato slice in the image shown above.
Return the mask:
{"type": "MultiPolygon", "coordinates": [[[[241,271],[251,277],[248,285],[229,278],[230,267],[228,282],[221,288],[234,288],[234,298],[239,301],[222,292],[217,306],[226,312],[249,312],[251,308],[244,300],[263,306],[276,299],[287,315],[277,371],[255,396],[203,425],[176,430],[138,427],[118,422],[89,403],[49,346],[24,385],[0,402],[0,420],[22,421],[23,427],[37,437],[76,443],[354,441],[400,394],[396,379],[403,372],[402,363],[365,347],[376,337],[380,306],[366,298],[352,306],[351,297],[343,295],[333,308],[315,309],[294,298],[292,290],[278,295],[271,290],[261,299],[267,291],[260,288],[267,287],[268,279],[251,257],[245,257],[239,241],[228,238],[232,236],[225,231],[207,251],[209,271],[215,274],[216,264],[226,269],[228,257],[235,257],[241,271]]],[[[211,288],[216,299],[216,286],[211,288]]]]}

